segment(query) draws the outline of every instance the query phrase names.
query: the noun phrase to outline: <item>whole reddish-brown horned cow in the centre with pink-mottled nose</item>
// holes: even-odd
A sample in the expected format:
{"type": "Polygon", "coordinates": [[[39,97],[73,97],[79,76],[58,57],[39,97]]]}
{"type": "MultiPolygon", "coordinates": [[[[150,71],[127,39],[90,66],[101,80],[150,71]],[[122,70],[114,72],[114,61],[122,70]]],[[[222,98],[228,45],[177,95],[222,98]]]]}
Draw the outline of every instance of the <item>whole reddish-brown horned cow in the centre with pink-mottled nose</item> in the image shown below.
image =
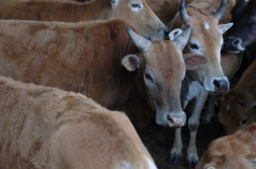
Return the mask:
{"type": "Polygon", "coordinates": [[[150,41],[130,29],[128,35],[127,26],[135,30],[122,19],[1,20],[0,74],[82,93],[103,107],[124,111],[136,128],[145,126],[153,112],[159,125],[185,125],[180,83],[186,69],[208,61],[195,54],[183,59],[190,26],[173,41],[150,41]]]}

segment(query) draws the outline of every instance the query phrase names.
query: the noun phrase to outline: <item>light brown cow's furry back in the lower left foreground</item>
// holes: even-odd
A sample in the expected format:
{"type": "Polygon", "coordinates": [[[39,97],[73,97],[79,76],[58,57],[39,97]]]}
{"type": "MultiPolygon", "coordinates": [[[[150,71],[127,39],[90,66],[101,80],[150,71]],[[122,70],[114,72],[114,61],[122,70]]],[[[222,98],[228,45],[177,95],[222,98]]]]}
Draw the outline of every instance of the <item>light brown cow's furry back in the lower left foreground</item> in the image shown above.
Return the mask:
{"type": "Polygon", "coordinates": [[[5,77],[0,95],[0,168],[156,169],[123,112],[5,77]]]}

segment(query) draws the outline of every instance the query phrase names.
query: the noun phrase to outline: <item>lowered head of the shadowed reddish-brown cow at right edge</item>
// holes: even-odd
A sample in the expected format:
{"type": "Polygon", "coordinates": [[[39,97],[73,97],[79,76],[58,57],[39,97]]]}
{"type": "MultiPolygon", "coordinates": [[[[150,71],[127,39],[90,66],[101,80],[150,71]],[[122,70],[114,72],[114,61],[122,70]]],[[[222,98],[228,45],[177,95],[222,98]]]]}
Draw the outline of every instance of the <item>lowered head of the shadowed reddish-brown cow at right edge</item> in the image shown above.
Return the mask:
{"type": "Polygon", "coordinates": [[[220,100],[219,118],[227,135],[256,122],[256,97],[230,90],[220,100]]]}

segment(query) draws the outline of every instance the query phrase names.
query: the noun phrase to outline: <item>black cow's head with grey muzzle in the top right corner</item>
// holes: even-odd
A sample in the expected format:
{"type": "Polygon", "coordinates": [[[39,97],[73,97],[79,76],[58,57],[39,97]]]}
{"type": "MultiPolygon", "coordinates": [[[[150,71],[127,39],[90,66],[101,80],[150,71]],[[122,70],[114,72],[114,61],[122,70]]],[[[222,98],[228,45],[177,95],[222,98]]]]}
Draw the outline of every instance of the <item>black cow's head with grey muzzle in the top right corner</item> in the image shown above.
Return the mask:
{"type": "Polygon", "coordinates": [[[237,1],[231,14],[234,25],[228,31],[222,48],[229,53],[239,53],[256,42],[256,1],[237,1]]]}

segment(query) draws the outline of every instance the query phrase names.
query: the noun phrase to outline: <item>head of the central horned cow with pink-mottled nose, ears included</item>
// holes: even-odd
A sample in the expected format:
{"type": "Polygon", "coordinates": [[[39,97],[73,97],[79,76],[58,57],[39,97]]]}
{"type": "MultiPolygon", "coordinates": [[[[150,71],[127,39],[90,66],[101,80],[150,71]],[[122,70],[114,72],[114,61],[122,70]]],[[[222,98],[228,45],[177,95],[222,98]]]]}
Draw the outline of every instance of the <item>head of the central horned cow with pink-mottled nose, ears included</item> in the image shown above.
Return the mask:
{"type": "Polygon", "coordinates": [[[140,95],[152,111],[156,112],[156,123],[170,127],[184,126],[186,115],[180,105],[181,81],[186,68],[195,69],[207,62],[200,55],[189,55],[184,62],[181,50],[188,41],[190,26],[173,41],[150,41],[130,28],[127,31],[141,53],[139,56],[125,56],[122,64],[129,71],[137,71],[135,83],[140,95]]]}

